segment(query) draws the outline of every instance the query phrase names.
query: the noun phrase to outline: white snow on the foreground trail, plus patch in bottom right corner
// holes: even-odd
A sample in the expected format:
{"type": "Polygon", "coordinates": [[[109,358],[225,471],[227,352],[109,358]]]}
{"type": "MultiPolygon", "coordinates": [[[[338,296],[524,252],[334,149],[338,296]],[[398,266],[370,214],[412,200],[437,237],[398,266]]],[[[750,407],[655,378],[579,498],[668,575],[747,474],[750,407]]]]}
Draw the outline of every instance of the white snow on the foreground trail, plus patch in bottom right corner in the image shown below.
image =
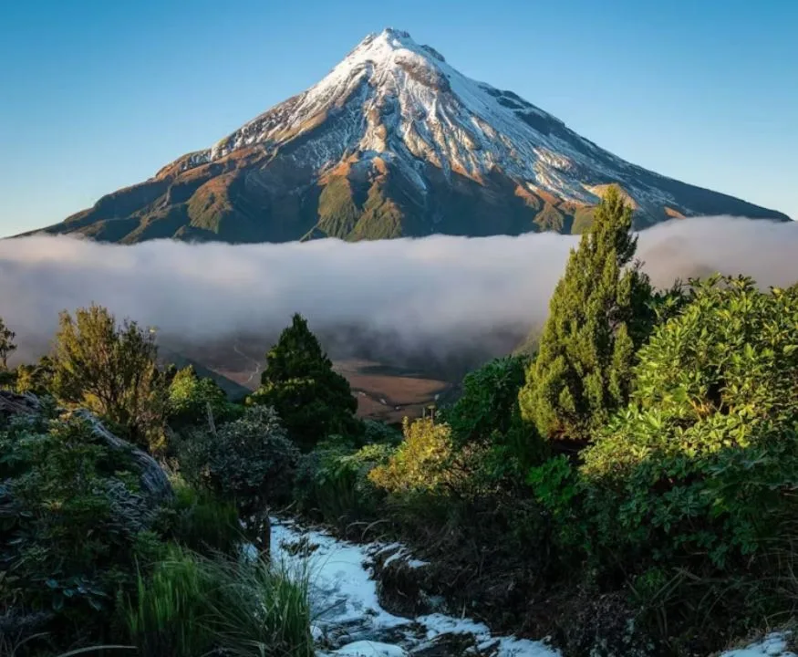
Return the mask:
{"type": "MultiPolygon", "coordinates": [[[[560,657],[545,641],[493,636],[482,623],[435,613],[407,619],[382,609],[371,564],[378,553],[412,559],[398,543],[356,545],[325,532],[306,530],[290,520],[272,518],[272,559],[289,572],[310,579],[313,633],[319,657],[560,657]],[[471,639],[471,647],[451,638],[471,639]]],[[[720,657],[798,657],[789,651],[789,632],[774,632],[720,657]]]]}

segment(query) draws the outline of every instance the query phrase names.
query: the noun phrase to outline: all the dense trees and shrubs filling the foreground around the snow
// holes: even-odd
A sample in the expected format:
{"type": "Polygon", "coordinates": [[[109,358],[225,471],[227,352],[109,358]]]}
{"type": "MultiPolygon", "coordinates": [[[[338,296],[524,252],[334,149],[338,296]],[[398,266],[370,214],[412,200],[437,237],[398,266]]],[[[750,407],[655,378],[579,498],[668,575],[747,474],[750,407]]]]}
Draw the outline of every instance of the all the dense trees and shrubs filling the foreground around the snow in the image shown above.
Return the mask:
{"type": "Polygon", "coordinates": [[[355,418],[298,316],[235,405],[192,370],[158,370],[135,323],[65,315],[47,359],[2,377],[43,402],[0,427],[0,654],[311,654],[308,582],[265,560],[285,507],[428,559],[382,571],[404,610],[442,595],[566,655],[708,654],[788,622],[798,288],[656,291],[630,224],[608,193],[535,353],[487,363],[400,431],[355,418]],[[169,469],[169,495],[142,485],[136,449],[169,469]]]}

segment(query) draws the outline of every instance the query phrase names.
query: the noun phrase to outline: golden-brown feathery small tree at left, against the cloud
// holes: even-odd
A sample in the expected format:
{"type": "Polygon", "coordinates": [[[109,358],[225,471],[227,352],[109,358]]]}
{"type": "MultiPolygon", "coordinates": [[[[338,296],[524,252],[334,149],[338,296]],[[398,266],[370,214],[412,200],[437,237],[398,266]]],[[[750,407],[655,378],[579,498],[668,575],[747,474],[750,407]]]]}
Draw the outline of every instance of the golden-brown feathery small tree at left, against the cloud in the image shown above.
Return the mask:
{"type": "Polygon", "coordinates": [[[162,438],[165,398],[157,355],[150,331],[129,319],[118,327],[107,308],[92,304],[74,318],[65,311],[51,357],[53,391],[151,447],[162,438]]]}

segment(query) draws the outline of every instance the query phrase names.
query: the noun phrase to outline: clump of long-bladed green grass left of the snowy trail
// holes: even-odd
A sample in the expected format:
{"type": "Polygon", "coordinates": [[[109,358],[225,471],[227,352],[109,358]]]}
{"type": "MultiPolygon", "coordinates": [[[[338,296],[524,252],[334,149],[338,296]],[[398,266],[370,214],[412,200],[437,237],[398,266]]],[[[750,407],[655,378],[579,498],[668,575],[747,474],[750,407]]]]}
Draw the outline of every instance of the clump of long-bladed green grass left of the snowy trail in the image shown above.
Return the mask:
{"type": "Polygon", "coordinates": [[[172,548],[141,576],[125,619],[144,657],[310,657],[307,579],[291,579],[268,562],[202,558],[172,548]]]}

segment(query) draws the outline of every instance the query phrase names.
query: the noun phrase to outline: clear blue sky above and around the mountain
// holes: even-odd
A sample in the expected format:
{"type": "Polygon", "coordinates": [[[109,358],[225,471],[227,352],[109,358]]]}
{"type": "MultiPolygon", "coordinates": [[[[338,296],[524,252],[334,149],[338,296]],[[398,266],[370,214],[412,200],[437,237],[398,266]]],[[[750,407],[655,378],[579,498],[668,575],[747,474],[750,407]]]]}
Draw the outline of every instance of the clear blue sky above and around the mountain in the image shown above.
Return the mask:
{"type": "Polygon", "coordinates": [[[798,218],[796,0],[2,0],[0,235],[211,146],[386,26],[630,162],[798,218]]]}

